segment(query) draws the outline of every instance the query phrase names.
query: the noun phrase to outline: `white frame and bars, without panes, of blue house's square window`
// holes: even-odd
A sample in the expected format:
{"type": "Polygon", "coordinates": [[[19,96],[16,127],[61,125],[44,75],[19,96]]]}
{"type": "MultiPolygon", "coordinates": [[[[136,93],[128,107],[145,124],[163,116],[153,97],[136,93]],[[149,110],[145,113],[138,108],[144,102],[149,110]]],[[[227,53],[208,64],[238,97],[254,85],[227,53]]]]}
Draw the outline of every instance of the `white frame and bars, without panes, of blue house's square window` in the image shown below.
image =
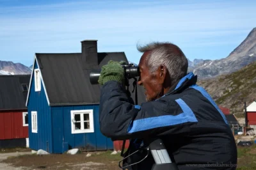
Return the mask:
{"type": "Polygon", "coordinates": [[[83,134],[83,133],[93,133],[94,132],[94,121],[93,121],[93,110],[77,110],[77,111],[70,111],[70,116],[71,116],[71,133],[72,134],[83,134]],[[77,130],[75,128],[75,114],[80,114],[80,121],[81,122],[81,129],[77,130]],[[83,114],[89,114],[89,123],[90,123],[90,128],[89,129],[84,129],[84,116],[83,114]]]}

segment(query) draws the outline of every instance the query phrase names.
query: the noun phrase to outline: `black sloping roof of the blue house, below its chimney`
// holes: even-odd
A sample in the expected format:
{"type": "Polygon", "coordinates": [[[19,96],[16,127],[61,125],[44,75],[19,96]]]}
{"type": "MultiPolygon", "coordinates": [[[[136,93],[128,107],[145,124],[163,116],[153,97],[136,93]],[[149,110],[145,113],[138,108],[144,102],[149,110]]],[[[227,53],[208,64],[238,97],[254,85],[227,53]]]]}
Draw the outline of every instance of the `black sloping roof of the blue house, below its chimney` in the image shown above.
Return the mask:
{"type": "MultiPolygon", "coordinates": [[[[50,105],[99,104],[100,85],[90,83],[91,70],[101,68],[109,60],[128,61],[124,52],[97,52],[97,57],[98,63],[92,66],[84,61],[82,53],[36,53],[50,105]]],[[[145,102],[144,89],[138,86],[138,104],[141,102],[145,102]]]]}

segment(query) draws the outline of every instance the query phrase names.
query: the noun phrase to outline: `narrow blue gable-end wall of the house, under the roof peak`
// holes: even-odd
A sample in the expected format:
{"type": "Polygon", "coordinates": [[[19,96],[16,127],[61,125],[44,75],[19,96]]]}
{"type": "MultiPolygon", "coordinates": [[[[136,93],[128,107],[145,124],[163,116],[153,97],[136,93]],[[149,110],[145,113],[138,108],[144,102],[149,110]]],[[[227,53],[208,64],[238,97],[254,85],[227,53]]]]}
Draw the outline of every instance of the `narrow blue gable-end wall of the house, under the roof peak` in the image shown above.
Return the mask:
{"type": "MultiPolygon", "coordinates": [[[[35,62],[35,69],[38,68],[35,62]]],[[[28,100],[29,148],[32,150],[52,151],[51,107],[47,103],[45,89],[41,79],[41,91],[35,91],[35,77],[32,72],[31,89],[28,100]],[[37,112],[37,133],[31,130],[31,111],[37,112]]]]}

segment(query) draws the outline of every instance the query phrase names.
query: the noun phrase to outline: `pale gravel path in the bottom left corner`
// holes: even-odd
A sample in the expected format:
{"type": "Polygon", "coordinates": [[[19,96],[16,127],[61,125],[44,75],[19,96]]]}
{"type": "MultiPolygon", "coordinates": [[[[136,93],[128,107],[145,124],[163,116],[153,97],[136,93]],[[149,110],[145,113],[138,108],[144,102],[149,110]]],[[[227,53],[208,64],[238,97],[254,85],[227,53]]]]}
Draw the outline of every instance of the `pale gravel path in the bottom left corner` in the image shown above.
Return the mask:
{"type": "Polygon", "coordinates": [[[31,151],[13,152],[13,153],[0,153],[0,170],[21,170],[22,167],[12,167],[9,164],[4,164],[1,161],[8,157],[16,157],[19,155],[31,154],[31,151]]]}

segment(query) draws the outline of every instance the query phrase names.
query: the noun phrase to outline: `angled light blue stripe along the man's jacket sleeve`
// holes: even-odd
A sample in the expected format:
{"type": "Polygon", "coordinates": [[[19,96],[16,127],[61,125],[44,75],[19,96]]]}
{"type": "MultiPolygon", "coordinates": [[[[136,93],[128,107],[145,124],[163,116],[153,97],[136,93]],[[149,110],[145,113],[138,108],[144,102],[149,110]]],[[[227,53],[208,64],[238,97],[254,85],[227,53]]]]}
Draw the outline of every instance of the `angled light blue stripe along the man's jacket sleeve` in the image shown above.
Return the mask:
{"type": "Polygon", "coordinates": [[[188,122],[197,122],[195,114],[182,99],[178,99],[175,101],[180,105],[183,111],[182,113],[175,116],[164,115],[134,120],[130,123],[127,132],[134,133],[142,130],[148,130],[151,128],[167,127],[188,122]]]}

